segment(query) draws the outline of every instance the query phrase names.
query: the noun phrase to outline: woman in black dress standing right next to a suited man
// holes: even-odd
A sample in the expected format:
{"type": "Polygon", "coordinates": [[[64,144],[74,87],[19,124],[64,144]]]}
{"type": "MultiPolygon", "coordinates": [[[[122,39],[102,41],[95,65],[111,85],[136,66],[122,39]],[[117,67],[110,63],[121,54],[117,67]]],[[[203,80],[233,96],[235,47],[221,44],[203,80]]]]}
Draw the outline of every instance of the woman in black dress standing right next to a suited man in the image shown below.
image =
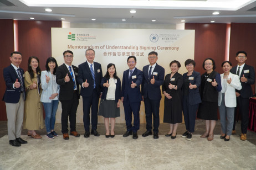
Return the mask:
{"type": "Polygon", "coordinates": [[[170,131],[165,136],[175,139],[177,127],[182,123],[182,92],[183,77],[178,73],[181,63],[173,60],[170,63],[171,73],[165,76],[162,92],[165,94],[165,111],[163,123],[170,124],[170,131]]]}

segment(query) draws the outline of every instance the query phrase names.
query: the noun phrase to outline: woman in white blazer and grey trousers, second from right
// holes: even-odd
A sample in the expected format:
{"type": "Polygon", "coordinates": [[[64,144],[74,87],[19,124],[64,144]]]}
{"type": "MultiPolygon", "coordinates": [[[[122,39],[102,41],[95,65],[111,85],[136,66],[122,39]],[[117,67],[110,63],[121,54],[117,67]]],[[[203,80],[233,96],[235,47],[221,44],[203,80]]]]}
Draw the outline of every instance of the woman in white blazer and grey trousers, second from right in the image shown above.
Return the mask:
{"type": "Polygon", "coordinates": [[[224,73],[221,74],[222,91],[219,92],[218,98],[222,130],[221,139],[229,141],[233,128],[234,109],[237,106],[235,89],[240,90],[242,86],[239,77],[230,72],[232,68],[231,62],[224,61],[221,66],[224,71],[224,73]]]}

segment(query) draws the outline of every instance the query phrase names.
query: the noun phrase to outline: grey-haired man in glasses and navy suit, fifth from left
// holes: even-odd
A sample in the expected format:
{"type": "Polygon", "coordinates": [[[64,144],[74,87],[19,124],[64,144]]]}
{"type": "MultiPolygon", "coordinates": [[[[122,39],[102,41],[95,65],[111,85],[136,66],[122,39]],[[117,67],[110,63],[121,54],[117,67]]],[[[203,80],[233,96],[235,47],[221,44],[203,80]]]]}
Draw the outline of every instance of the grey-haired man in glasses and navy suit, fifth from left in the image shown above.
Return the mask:
{"type": "Polygon", "coordinates": [[[91,108],[91,134],[100,136],[97,131],[98,105],[102,94],[100,83],[103,77],[101,65],[94,62],[95,51],[87,49],[85,51],[87,61],[81,63],[78,73],[78,83],[81,86],[80,95],[83,97],[84,110],[84,137],[90,136],[90,108],[91,108]]]}

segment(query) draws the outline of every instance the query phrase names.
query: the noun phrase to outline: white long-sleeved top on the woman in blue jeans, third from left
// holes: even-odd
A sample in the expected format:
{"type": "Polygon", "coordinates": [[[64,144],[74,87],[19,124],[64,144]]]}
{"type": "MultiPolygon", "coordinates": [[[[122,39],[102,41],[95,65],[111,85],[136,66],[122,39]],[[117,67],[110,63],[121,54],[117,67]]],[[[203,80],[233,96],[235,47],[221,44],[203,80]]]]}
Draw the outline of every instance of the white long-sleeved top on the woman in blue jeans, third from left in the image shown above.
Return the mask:
{"type": "MultiPolygon", "coordinates": [[[[52,100],[49,99],[50,95],[53,94],[53,77],[52,77],[52,73],[50,73],[50,71],[42,71],[41,72],[41,86],[42,86],[42,94],[41,94],[41,102],[44,103],[51,103],[52,100]],[[46,78],[45,75],[47,75],[48,77],[50,77],[50,81],[47,83],[46,82],[46,78]]],[[[57,84],[57,83],[56,83],[57,84]]],[[[57,86],[57,93],[59,94],[59,85],[57,86]]],[[[59,98],[59,95],[57,96],[57,98],[59,98]]]]}

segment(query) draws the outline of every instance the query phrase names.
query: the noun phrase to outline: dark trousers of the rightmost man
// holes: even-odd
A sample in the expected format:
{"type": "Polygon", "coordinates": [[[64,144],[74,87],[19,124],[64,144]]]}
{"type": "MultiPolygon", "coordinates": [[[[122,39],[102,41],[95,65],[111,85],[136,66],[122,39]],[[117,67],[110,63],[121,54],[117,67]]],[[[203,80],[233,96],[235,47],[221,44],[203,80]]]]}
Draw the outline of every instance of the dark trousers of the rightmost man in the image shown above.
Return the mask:
{"type": "MultiPolygon", "coordinates": [[[[242,134],[247,133],[247,128],[249,124],[249,98],[243,98],[241,96],[237,97],[237,106],[239,107],[239,114],[241,115],[241,131],[242,134]]],[[[234,124],[233,130],[235,130],[235,118],[237,113],[237,108],[234,111],[234,124]]]]}

